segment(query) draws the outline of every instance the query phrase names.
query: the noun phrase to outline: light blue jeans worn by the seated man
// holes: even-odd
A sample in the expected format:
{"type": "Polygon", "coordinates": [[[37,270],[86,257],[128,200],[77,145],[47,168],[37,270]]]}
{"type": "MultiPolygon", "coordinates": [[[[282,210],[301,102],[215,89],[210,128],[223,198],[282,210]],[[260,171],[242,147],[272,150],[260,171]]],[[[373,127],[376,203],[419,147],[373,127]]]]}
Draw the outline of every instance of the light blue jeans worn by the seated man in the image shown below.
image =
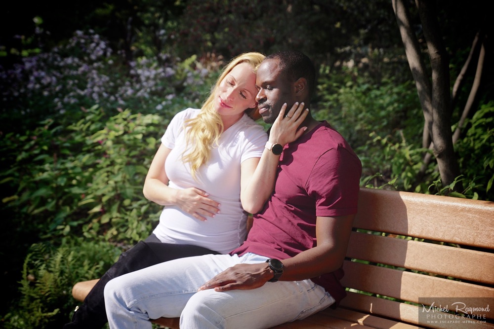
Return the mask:
{"type": "Polygon", "coordinates": [[[105,287],[110,328],[151,329],[149,319],[180,317],[184,329],[261,329],[303,319],[334,303],[311,280],[267,282],[253,290],[197,292],[239,263],[265,262],[246,254],[175,259],[117,277],[105,287]]]}

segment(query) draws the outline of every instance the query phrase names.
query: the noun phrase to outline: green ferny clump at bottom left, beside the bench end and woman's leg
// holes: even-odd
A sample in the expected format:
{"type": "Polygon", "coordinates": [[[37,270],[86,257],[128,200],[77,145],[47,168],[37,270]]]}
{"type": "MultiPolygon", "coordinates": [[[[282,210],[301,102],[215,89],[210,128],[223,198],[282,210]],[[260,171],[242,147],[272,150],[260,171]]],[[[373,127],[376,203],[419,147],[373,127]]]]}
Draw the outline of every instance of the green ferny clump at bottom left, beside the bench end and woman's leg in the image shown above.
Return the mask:
{"type": "Polygon", "coordinates": [[[120,253],[107,242],[77,237],[64,238],[58,248],[34,244],[24,261],[19,303],[3,317],[3,328],[61,328],[77,303],[72,286],[99,278],[120,253]]]}

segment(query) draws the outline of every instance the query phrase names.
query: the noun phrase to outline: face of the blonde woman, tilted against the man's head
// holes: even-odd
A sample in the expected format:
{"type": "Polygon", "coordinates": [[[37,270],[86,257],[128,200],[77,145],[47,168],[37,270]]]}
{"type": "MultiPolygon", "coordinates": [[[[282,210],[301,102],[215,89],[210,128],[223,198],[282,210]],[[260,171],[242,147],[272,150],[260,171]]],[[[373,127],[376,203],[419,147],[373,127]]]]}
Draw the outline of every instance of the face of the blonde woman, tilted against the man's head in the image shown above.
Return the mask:
{"type": "Polygon", "coordinates": [[[236,65],[220,82],[215,91],[214,107],[221,116],[240,116],[255,108],[255,73],[247,63],[236,65]]]}

